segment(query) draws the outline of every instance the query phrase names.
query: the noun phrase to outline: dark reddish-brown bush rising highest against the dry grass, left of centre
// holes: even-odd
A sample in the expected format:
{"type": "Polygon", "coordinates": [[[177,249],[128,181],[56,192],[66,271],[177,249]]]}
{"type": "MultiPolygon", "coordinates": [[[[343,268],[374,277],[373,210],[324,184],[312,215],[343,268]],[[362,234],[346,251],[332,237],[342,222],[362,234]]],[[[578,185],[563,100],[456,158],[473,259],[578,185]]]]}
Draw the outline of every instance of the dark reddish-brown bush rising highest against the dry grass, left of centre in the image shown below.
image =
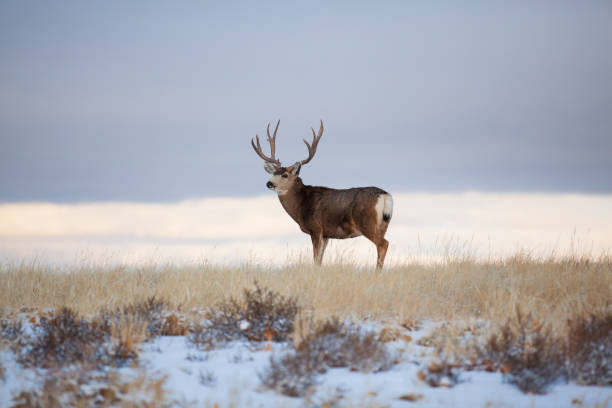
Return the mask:
{"type": "Polygon", "coordinates": [[[288,340],[299,311],[297,300],[262,289],[257,282],[243,295],[243,301],[230,298],[208,311],[206,323],[196,326],[189,340],[203,349],[234,340],[288,340]]]}

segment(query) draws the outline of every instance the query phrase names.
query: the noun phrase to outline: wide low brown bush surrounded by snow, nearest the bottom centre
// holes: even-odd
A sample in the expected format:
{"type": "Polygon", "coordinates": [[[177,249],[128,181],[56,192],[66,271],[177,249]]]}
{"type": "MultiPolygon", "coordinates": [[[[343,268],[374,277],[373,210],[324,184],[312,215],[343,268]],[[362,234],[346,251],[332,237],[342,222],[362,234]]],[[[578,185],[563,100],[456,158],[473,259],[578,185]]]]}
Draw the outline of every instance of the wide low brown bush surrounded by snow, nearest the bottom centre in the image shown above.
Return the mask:
{"type": "Polygon", "coordinates": [[[294,351],[279,358],[272,356],[260,378],[270,389],[299,397],[316,383],[316,376],[328,368],[378,372],[389,369],[392,364],[393,359],[377,333],[331,319],[312,329],[294,351]]]}

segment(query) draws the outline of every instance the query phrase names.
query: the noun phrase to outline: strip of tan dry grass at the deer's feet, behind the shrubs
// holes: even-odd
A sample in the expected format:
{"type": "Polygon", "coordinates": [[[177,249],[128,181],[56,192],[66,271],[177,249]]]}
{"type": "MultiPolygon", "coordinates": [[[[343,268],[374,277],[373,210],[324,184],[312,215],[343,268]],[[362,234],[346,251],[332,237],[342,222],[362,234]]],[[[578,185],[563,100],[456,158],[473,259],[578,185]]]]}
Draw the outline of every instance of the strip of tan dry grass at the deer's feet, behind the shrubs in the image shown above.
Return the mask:
{"type": "Polygon", "coordinates": [[[151,266],[59,269],[38,264],[0,266],[0,309],[70,307],[79,314],[115,309],[152,296],[170,308],[209,308],[245,287],[300,299],[317,318],[412,317],[505,320],[526,313],[564,322],[575,312],[610,306],[612,258],[535,259],[523,253],[476,262],[456,256],[438,264],[410,263],[376,272],[354,265],[310,263],[268,268],[151,266]]]}

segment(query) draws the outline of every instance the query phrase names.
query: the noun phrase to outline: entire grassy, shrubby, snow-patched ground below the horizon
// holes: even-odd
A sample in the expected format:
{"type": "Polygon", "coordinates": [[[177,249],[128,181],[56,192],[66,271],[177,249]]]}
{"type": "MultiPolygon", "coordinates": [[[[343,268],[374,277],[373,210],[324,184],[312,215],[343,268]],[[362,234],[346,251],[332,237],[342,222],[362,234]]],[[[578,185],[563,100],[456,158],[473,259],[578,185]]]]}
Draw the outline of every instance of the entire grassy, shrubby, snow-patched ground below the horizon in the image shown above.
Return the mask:
{"type": "Polygon", "coordinates": [[[0,283],[2,406],[604,407],[612,398],[609,256],[454,254],[382,272],[350,262],[13,263],[0,283]],[[76,341],[85,332],[108,350],[76,341]]]}

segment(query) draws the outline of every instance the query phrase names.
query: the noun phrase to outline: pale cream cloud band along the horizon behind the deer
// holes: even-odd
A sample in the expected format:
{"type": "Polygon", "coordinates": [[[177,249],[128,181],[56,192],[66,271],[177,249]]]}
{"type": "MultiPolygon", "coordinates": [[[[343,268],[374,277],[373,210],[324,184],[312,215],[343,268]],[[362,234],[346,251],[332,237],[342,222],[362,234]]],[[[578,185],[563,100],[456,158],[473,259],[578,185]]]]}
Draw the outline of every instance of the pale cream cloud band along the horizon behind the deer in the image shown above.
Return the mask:
{"type": "MultiPolygon", "coordinates": [[[[612,196],[395,194],[390,262],[471,254],[600,255],[612,248],[612,196]]],[[[172,204],[0,205],[0,259],[42,263],[282,264],[310,239],[275,196],[172,204]]],[[[374,264],[365,238],[333,241],[325,260],[374,264]]]]}

